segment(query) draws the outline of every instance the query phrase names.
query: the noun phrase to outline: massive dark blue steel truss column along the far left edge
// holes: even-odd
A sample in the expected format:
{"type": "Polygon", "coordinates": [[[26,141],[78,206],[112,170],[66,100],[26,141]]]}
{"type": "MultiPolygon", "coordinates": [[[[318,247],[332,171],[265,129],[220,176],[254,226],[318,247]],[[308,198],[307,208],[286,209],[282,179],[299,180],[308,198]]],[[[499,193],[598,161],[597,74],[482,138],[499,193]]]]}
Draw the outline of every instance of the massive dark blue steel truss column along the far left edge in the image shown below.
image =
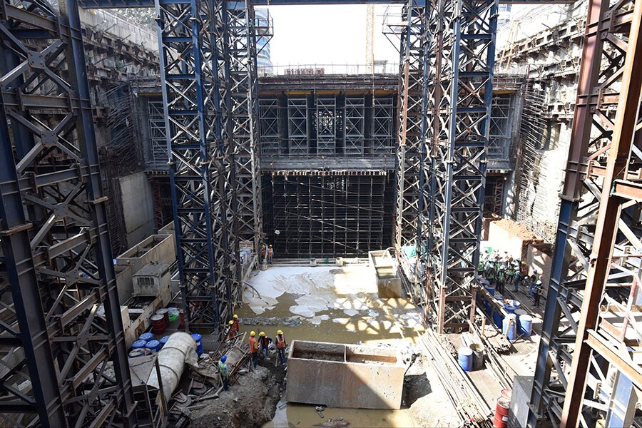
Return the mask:
{"type": "Polygon", "coordinates": [[[0,11],[0,417],[135,425],[75,0],[0,11]]]}

